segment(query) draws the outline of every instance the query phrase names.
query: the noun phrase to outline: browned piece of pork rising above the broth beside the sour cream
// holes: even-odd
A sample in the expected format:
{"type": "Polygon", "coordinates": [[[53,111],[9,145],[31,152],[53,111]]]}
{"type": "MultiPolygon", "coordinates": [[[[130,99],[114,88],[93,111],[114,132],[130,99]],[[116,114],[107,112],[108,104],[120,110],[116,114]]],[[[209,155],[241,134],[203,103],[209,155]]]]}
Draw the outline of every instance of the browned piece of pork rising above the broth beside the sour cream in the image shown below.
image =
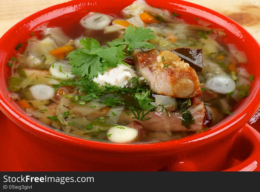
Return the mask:
{"type": "Polygon", "coordinates": [[[191,98],[202,94],[199,78],[188,63],[171,51],[137,53],[135,66],[157,94],[191,98]]]}

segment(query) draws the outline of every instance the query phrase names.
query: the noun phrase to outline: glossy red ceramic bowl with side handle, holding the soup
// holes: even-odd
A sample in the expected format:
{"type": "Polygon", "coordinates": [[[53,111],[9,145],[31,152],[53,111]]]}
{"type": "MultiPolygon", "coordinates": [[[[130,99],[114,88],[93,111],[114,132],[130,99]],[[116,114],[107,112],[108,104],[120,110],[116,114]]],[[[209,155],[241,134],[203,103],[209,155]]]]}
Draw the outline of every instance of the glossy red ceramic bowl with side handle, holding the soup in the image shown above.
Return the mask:
{"type": "MultiPolygon", "coordinates": [[[[39,11],[13,26],[0,39],[1,171],[259,171],[260,134],[246,122],[259,108],[260,47],[248,32],[231,19],[185,1],[147,0],[155,7],[176,11],[188,23],[198,19],[224,29],[222,43],[235,43],[248,56],[246,69],[255,76],[250,95],[208,131],[179,140],[150,144],[113,144],[85,140],[57,132],[27,116],[6,91],[14,49],[25,43],[37,26],[79,27],[89,11],[118,12],[131,0],[75,0],[39,11]],[[252,51],[253,49],[253,51],[252,51]]],[[[69,34],[77,36],[77,31],[69,34]]],[[[25,44],[24,46],[25,47],[25,44]]]]}

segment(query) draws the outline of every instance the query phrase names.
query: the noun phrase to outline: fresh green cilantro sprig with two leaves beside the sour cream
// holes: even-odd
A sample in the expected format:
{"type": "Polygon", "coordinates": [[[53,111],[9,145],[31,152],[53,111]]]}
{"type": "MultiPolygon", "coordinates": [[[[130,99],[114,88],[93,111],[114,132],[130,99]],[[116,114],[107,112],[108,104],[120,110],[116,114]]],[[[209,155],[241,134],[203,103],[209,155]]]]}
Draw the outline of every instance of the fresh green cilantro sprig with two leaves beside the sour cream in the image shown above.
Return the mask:
{"type": "MultiPolygon", "coordinates": [[[[88,79],[96,77],[99,73],[104,74],[110,67],[117,67],[118,64],[126,64],[124,49],[127,47],[127,54],[134,49],[151,49],[155,46],[147,40],[155,39],[153,31],[149,28],[134,27],[129,25],[125,29],[124,38],[106,42],[106,46],[100,46],[97,40],[85,37],[79,42],[81,49],[71,51],[68,55],[69,63],[72,65],[73,74],[88,79]]],[[[127,65],[127,64],[126,64],[127,65]]]]}

